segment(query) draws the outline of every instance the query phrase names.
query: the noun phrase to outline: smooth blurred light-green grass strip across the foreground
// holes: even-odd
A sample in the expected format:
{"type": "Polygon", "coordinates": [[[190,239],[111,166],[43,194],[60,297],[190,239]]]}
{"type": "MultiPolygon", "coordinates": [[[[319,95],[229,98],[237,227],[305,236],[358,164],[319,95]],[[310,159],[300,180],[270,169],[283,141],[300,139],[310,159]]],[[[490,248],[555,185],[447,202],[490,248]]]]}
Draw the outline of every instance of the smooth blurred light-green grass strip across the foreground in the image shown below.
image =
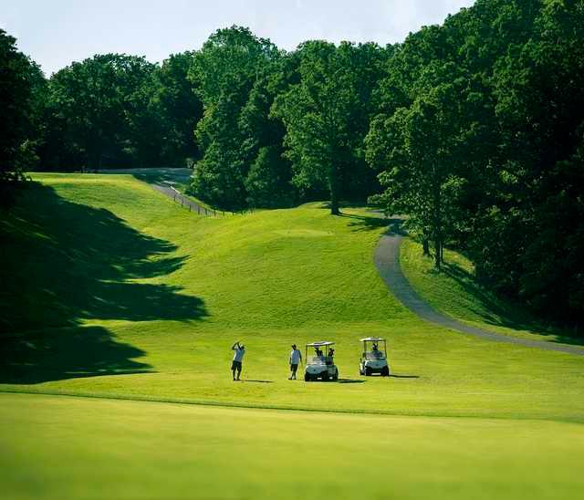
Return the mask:
{"type": "Polygon", "coordinates": [[[26,498],[577,498],[572,423],[0,395],[0,487],[26,498]],[[553,436],[553,439],[549,439],[553,436]],[[42,443],[42,445],[39,445],[42,443]]]}

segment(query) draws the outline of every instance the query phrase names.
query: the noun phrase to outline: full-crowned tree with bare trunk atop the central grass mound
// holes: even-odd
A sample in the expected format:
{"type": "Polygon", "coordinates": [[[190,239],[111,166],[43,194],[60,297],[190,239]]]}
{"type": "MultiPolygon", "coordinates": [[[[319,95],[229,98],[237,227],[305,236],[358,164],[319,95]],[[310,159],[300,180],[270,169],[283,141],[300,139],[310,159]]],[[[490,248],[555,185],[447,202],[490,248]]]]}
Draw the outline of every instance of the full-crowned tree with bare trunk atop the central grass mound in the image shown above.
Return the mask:
{"type": "Polygon", "coordinates": [[[293,182],[304,188],[326,186],[330,212],[339,214],[343,180],[349,183],[350,169],[364,164],[368,106],[381,72],[378,47],[311,41],[298,52],[300,79],[277,97],[273,112],[286,125],[293,182]]]}

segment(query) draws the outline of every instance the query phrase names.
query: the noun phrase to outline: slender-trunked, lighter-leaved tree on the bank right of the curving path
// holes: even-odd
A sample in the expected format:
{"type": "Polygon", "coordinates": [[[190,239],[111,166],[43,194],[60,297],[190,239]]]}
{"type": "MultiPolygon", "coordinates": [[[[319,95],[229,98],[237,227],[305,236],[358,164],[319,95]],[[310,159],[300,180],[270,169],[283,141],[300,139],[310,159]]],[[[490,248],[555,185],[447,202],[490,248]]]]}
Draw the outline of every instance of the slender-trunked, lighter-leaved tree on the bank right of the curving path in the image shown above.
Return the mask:
{"type": "Polygon", "coordinates": [[[435,84],[410,108],[397,109],[389,118],[378,116],[366,139],[369,161],[386,169],[380,175],[385,192],[374,199],[391,214],[410,215],[407,224],[424,241],[433,240],[438,268],[465,186],[459,174],[464,133],[458,83],[435,84]]]}

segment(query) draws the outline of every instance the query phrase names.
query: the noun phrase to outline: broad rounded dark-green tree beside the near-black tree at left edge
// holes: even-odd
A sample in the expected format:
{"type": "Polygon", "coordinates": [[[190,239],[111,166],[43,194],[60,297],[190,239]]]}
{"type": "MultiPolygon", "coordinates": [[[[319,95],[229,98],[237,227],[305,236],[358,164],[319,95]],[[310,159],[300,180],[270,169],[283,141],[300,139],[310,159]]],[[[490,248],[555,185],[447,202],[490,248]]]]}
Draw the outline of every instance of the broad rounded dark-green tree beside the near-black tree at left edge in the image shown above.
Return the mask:
{"type": "Polygon", "coordinates": [[[52,76],[49,108],[73,159],[89,168],[158,163],[159,129],[143,87],[153,69],[143,57],[107,54],[52,76]]]}

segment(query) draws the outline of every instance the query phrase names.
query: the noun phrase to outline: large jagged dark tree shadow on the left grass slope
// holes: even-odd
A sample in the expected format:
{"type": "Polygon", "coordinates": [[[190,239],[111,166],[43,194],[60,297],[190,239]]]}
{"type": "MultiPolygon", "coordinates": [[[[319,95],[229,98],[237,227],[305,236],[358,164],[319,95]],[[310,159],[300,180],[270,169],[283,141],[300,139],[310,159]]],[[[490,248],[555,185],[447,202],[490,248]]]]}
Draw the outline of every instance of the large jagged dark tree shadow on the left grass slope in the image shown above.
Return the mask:
{"type": "Polygon", "coordinates": [[[32,184],[0,220],[0,241],[0,382],[142,372],[149,365],[133,360],[141,349],[82,323],[207,316],[179,286],[135,281],[183,266],[185,257],[168,255],[175,245],[47,186],[32,184]]]}

